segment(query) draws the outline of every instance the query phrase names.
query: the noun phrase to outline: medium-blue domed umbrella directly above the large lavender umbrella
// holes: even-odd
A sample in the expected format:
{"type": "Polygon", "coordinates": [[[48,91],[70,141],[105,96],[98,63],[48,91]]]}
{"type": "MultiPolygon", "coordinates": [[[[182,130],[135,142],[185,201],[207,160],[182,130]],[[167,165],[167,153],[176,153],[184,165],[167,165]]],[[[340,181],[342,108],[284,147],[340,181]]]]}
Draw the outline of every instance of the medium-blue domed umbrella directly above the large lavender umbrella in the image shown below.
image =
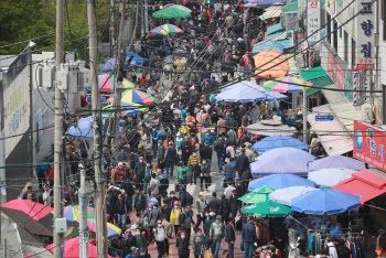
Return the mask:
{"type": "Polygon", "coordinates": [[[266,152],[280,147],[292,147],[303,151],[310,148],[310,146],[292,137],[272,136],[256,142],[251,149],[257,152],[266,152]]]}

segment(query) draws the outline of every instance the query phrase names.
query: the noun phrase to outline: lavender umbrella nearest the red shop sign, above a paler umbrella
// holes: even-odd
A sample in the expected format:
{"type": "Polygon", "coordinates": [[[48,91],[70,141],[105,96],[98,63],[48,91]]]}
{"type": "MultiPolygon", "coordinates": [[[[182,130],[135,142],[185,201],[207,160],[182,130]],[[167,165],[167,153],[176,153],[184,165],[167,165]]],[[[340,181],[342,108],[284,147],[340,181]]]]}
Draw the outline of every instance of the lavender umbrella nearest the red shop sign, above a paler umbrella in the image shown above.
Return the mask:
{"type": "Polygon", "coordinates": [[[366,164],[360,160],[355,160],[344,155],[330,155],[309,163],[309,171],[341,168],[360,171],[365,170],[366,164]]]}

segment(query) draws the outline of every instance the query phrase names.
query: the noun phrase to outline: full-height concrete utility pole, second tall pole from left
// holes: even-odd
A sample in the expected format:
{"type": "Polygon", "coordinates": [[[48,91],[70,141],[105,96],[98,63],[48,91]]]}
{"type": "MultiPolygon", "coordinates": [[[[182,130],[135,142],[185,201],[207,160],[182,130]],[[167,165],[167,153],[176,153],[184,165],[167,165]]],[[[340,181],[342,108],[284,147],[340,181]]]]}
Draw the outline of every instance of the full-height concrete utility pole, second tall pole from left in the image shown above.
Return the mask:
{"type": "Polygon", "coordinates": [[[92,79],[92,108],[94,133],[94,173],[97,184],[96,223],[97,223],[97,257],[107,257],[107,225],[105,209],[105,185],[101,179],[101,119],[98,85],[98,46],[95,17],[95,0],[87,0],[87,22],[89,36],[89,76],[92,79]]]}

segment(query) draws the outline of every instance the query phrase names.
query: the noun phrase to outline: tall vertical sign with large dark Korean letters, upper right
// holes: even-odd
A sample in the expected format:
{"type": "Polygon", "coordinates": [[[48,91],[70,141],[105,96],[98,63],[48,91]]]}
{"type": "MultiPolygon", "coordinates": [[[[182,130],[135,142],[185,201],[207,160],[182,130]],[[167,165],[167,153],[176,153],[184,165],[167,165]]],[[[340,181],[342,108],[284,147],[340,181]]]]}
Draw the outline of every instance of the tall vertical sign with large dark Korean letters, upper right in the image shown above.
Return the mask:
{"type": "MultiPolygon", "coordinates": [[[[376,6],[368,0],[357,0],[357,11],[361,11],[356,21],[356,64],[367,65],[375,57],[375,11],[376,6]]],[[[366,68],[372,68],[367,67],[366,68]]]]}

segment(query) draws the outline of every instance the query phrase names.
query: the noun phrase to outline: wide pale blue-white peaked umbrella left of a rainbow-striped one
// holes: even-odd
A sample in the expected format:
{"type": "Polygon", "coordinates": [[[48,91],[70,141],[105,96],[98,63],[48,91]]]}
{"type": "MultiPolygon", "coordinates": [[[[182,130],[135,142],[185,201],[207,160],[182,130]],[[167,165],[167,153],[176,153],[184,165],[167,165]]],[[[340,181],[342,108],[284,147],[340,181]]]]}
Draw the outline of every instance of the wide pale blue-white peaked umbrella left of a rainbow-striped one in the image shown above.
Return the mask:
{"type": "Polygon", "coordinates": [[[275,99],[285,99],[286,95],[267,92],[261,86],[248,80],[243,80],[235,85],[224,88],[224,90],[216,96],[216,100],[224,100],[228,103],[248,103],[255,100],[272,101],[275,99]]]}

